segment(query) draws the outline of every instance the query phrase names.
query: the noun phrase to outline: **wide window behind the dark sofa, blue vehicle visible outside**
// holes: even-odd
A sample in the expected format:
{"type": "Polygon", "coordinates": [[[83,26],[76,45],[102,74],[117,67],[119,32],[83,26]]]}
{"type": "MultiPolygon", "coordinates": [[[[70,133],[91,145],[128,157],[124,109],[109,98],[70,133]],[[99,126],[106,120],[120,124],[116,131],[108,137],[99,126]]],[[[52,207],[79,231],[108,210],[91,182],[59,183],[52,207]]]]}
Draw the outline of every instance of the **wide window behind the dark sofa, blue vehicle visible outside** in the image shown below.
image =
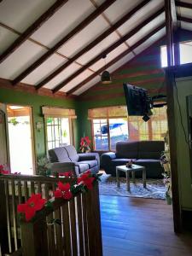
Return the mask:
{"type": "Polygon", "coordinates": [[[95,150],[114,151],[118,141],[163,140],[167,131],[166,107],[154,108],[148,122],[127,117],[125,106],[89,109],[88,116],[95,150]]]}

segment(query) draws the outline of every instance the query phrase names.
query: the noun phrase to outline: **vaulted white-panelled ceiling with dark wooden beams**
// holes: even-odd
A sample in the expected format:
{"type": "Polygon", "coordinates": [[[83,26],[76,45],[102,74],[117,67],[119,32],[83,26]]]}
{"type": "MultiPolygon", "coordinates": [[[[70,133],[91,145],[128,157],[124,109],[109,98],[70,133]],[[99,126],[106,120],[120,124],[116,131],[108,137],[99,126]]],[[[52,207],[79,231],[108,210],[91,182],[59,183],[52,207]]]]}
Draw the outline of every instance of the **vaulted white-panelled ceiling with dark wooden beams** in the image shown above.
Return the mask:
{"type": "MultiPolygon", "coordinates": [[[[177,25],[192,31],[191,0],[175,4],[177,25]]],[[[0,0],[0,78],[79,96],[164,37],[165,24],[164,0],[0,0]]]]}

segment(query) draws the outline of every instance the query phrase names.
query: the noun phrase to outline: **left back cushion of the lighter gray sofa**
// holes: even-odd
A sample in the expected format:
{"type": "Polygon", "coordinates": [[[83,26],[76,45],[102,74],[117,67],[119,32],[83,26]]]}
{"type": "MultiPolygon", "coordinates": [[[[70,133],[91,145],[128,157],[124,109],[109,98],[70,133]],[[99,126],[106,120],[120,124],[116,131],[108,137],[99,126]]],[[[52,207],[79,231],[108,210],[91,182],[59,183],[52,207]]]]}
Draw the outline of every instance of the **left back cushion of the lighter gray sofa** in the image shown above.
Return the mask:
{"type": "Polygon", "coordinates": [[[64,147],[49,149],[49,158],[51,163],[71,161],[64,147]]]}

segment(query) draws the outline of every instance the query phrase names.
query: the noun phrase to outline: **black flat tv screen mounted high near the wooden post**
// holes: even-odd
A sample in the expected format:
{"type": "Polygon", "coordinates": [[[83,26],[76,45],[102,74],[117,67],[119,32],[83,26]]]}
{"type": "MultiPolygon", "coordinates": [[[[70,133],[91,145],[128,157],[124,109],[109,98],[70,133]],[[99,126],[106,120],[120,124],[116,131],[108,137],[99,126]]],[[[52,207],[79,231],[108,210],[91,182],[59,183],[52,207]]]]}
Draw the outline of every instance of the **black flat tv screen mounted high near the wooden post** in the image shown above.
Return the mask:
{"type": "Polygon", "coordinates": [[[150,115],[152,108],[148,90],[131,84],[123,84],[125,101],[129,115],[146,116],[150,115]]]}

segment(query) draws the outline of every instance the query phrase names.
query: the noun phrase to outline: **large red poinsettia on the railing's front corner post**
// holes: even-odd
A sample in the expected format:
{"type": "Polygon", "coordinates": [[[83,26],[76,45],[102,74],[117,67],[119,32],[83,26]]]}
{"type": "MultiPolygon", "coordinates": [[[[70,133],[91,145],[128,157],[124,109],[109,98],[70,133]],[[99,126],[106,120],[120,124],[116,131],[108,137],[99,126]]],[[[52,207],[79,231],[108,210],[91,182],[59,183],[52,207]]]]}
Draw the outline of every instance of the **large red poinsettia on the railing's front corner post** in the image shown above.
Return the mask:
{"type": "Polygon", "coordinates": [[[17,212],[25,213],[26,221],[29,221],[35,216],[37,211],[44,207],[45,203],[46,199],[43,199],[41,194],[32,194],[25,204],[20,204],[17,206],[17,212]]]}

